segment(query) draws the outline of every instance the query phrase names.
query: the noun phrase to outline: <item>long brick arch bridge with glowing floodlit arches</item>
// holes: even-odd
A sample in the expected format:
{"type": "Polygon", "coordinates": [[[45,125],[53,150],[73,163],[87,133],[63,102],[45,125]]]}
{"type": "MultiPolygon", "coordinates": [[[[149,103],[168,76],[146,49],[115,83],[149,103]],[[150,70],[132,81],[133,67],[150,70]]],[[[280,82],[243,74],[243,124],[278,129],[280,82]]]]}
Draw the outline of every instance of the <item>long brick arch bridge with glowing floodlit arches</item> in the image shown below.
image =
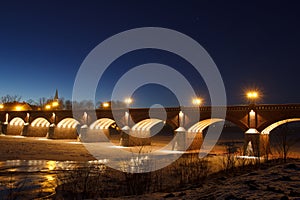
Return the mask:
{"type": "MultiPolygon", "coordinates": [[[[117,124],[122,126],[123,130],[130,129],[138,133],[140,133],[141,130],[151,132],[152,127],[163,122],[165,125],[171,127],[175,133],[182,135],[180,141],[178,141],[178,149],[180,150],[186,148],[185,145],[189,140],[190,134],[194,134],[194,141],[192,142],[191,148],[192,146],[194,146],[193,148],[200,148],[201,144],[199,146],[199,143],[202,143],[202,131],[213,123],[227,120],[245,132],[245,146],[251,142],[254,155],[259,156],[268,148],[268,134],[270,131],[284,123],[300,121],[300,104],[248,105],[215,108],[219,111],[226,111],[225,119],[211,118],[212,108],[205,106],[199,109],[184,108],[182,112],[180,108],[166,108],[164,111],[166,113],[166,120],[164,121],[159,118],[160,115],[158,115],[157,119],[149,119],[149,109],[147,108],[129,109],[129,113],[126,112],[125,109],[119,109],[114,112],[115,117],[110,109],[77,111],[76,113],[72,113],[72,110],[0,111],[0,131],[3,134],[46,136],[53,139],[76,138],[79,135],[80,139],[84,141],[88,135],[94,134],[95,136],[99,131],[103,131],[105,135],[109,136],[112,127],[116,127],[115,118],[117,116],[117,124]],[[189,115],[186,113],[199,111],[199,120],[196,122],[190,121],[189,115]],[[180,114],[182,119],[180,119],[180,114]],[[130,118],[128,116],[130,116],[130,118]],[[179,127],[183,129],[179,129],[179,127]],[[195,136],[195,134],[197,136],[195,136]]],[[[162,111],[162,109],[153,110],[154,116],[155,113],[161,113],[162,111]]],[[[153,116],[151,118],[153,118],[153,116]]],[[[123,144],[132,145],[133,143],[130,143],[130,141],[134,141],[135,139],[136,137],[133,136],[124,136],[123,144]]],[[[95,137],[93,140],[95,140],[95,137]]],[[[103,140],[103,138],[101,140],[103,140]]],[[[144,138],[142,140],[146,141],[147,139],[144,138]]],[[[150,139],[148,138],[148,140],[150,139]]]]}

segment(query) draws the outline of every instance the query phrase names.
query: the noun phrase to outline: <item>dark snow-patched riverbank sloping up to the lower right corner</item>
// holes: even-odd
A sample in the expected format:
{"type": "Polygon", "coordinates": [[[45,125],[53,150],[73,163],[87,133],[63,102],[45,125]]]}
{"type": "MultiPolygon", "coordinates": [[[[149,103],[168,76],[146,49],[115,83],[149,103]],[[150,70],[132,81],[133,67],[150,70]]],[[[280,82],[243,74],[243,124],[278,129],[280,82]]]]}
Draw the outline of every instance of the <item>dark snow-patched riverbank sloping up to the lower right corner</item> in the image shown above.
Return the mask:
{"type": "Polygon", "coordinates": [[[242,175],[219,173],[178,192],[108,199],[300,199],[300,160],[242,175]]]}

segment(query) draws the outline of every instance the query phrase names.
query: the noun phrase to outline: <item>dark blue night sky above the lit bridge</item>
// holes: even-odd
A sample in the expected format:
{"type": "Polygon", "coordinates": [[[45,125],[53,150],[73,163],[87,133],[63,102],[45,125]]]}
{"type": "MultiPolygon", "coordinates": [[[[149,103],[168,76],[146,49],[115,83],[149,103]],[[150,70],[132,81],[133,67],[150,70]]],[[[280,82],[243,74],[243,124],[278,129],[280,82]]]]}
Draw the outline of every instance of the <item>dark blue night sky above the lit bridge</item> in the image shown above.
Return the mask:
{"type": "MultiPolygon", "coordinates": [[[[299,10],[298,1],[1,1],[0,96],[37,100],[57,88],[71,99],[77,70],[95,46],[121,31],[156,26],[180,31],[208,51],[229,104],[245,103],[243,91],[252,87],[263,91],[262,103],[300,103],[299,10]]],[[[174,66],[209,98],[188,63],[154,50],[116,60],[97,97],[108,99],[117,78],[144,62],[174,66]]],[[[158,86],[134,96],[137,106],[155,103],[153,96],[158,103],[176,102],[158,86]]]]}

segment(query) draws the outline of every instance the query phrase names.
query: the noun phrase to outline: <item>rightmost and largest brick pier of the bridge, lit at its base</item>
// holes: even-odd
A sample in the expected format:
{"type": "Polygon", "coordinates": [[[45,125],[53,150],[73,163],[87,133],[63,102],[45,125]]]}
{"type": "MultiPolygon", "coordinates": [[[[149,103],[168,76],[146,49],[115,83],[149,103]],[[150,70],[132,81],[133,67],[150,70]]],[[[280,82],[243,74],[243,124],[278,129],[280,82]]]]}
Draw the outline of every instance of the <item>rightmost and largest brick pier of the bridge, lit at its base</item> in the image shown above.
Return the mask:
{"type": "Polygon", "coordinates": [[[269,134],[261,134],[255,128],[250,128],[245,133],[244,155],[268,156],[270,153],[269,134]]]}

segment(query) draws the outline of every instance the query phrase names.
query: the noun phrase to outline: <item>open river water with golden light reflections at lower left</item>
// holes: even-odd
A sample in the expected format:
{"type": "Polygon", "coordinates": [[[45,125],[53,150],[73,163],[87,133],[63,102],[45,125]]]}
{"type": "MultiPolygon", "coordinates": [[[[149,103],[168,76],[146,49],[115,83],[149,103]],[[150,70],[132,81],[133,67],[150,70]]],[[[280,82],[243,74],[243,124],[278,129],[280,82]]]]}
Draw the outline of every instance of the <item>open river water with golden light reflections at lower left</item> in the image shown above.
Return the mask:
{"type": "Polygon", "coordinates": [[[7,160],[0,162],[1,199],[33,199],[51,196],[58,185],[58,175],[80,167],[103,169],[108,160],[89,162],[53,160],[7,160]],[[15,195],[15,196],[14,196],[15,195]]]}

